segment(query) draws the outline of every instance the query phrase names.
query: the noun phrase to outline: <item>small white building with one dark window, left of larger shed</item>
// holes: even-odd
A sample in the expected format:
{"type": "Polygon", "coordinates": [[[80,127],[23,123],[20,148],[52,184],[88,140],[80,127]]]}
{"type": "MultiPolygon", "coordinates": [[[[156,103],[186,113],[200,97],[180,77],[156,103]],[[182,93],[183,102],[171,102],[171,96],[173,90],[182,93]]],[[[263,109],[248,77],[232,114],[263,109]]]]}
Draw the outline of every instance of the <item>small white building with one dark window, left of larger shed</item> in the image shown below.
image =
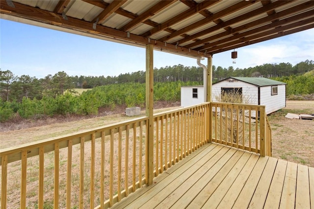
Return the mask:
{"type": "Polygon", "coordinates": [[[204,102],[203,86],[182,86],[181,87],[181,106],[187,107],[204,102]],[[193,89],[197,89],[197,98],[193,98],[193,89]]]}

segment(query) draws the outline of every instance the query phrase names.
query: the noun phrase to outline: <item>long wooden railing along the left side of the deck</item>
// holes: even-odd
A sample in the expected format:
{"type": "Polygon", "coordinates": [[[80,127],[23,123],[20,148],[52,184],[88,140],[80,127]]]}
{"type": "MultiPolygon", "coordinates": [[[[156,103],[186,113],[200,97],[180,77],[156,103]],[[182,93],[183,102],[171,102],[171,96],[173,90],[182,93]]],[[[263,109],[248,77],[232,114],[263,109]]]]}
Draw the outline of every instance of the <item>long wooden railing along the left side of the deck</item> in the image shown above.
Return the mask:
{"type": "Polygon", "coordinates": [[[109,208],[209,141],[209,103],[0,150],[1,208],[109,208]],[[96,206],[96,207],[95,207],[96,206]]]}

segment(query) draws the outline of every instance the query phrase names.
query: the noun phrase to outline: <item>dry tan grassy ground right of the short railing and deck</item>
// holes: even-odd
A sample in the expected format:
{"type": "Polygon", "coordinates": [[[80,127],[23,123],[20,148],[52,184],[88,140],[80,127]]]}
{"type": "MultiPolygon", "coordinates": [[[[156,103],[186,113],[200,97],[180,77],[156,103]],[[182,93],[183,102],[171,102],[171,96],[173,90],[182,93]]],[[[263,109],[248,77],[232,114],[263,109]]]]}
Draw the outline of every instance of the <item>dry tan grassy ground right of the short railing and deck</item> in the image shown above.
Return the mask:
{"type": "Polygon", "coordinates": [[[287,101],[268,116],[273,157],[314,167],[314,120],[289,119],[287,113],[313,114],[314,101],[287,101]]]}

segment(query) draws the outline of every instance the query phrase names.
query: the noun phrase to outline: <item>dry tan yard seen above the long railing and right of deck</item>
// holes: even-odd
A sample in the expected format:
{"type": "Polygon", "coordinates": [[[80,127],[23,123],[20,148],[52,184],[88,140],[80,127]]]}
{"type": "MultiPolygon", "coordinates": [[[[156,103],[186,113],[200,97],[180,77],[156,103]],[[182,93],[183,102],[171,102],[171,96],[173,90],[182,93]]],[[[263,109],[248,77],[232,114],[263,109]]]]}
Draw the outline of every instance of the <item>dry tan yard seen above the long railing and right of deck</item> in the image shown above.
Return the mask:
{"type": "MultiPolygon", "coordinates": [[[[176,107],[155,111],[162,112],[174,108],[176,107]]],[[[287,113],[313,114],[314,101],[287,100],[286,108],[268,116],[272,128],[273,157],[314,167],[314,120],[289,119],[285,117],[287,113]]],[[[145,116],[144,111],[141,116],[145,116]]],[[[74,121],[60,121],[54,118],[49,125],[31,128],[23,128],[24,124],[19,124],[11,130],[0,132],[0,148],[75,133],[130,118],[123,114],[114,114],[74,121]]]]}

